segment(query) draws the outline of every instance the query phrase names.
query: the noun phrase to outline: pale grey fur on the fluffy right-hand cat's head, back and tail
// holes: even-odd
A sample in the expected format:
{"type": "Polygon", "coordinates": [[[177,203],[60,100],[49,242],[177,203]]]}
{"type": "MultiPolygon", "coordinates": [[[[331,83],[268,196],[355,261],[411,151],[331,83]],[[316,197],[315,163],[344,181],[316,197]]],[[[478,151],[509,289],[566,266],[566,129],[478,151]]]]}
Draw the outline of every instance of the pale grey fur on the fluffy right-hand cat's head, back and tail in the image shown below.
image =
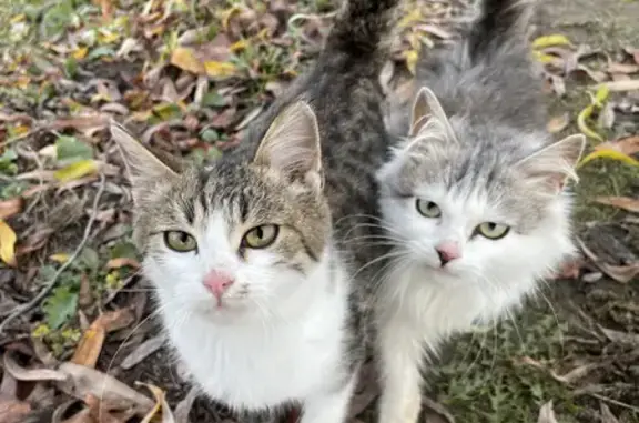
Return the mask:
{"type": "MultiPolygon", "coordinates": [[[[420,58],[416,85],[435,94],[433,103],[445,114],[435,118],[453,133],[435,140],[429,134],[435,122],[416,128],[423,142],[414,142],[403,169],[384,179],[387,194],[406,197],[418,183],[442,181],[457,192],[485,193],[491,203],[503,204],[521,231],[539,222],[548,192],[530,187],[537,175],[518,165],[552,143],[545,129],[541,81],[526,39],[531,8],[531,1],[485,0],[460,42],[420,58]]],[[[406,99],[390,102],[389,131],[404,137],[414,123],[413,104],[406,99]]],[[[566,157],[547,168],[557,164],[557,172],[564,172],[564,162],[575,164],[582,140],[572,141],[570,151],[557,148],[566,157]]]]}

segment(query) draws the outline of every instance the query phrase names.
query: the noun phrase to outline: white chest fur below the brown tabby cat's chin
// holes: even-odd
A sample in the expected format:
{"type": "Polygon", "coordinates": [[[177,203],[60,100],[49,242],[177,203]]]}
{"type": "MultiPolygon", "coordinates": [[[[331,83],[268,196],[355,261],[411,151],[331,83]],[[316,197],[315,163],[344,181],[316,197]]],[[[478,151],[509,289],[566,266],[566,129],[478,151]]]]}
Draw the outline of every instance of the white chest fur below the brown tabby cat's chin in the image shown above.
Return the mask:
{"type": "Polygon", "coordinates": [[[193,379],[211,397],[235,409],[303,401],[339,382],[344,362],[345,283],[305,304],[305,313],[277,322],[219,325],[202,315],[174,324],[170,339],[193,379]]]}

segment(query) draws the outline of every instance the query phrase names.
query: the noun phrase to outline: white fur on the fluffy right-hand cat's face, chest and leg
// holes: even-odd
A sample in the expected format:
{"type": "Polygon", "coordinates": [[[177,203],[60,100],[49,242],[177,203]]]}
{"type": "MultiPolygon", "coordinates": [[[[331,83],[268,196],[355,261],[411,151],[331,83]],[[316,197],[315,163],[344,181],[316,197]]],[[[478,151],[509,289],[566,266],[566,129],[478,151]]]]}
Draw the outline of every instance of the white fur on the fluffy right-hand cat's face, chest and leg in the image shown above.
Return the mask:
{"type": "MultiPolygon", "coordinates": [[[[397,170],[392,160],[381,178],[397,170]]],[[[395,163],[394,163],[395,162],[395,163]]],[[[483,222],[510,223],[498,204],[480,192],[450,192],[423,184],[415,194],[436,202],[442,218],[428,219],[415,208],[415,198],[383,195],[387,235],[405,254],[396,260],[378,294],[377,324],[383,394],[381,423],[414,423],[420,410],[420,374],[428,355],[457,332],[489,322],[521,303],[537,281],[574,253],[569,236],[569,200],[557,195],[546,219],[531,233],[511,230],[500,240],[474,236],[483,222]],[[463,256],[439,268],[435,245],[459,243],[463,256]]]]}

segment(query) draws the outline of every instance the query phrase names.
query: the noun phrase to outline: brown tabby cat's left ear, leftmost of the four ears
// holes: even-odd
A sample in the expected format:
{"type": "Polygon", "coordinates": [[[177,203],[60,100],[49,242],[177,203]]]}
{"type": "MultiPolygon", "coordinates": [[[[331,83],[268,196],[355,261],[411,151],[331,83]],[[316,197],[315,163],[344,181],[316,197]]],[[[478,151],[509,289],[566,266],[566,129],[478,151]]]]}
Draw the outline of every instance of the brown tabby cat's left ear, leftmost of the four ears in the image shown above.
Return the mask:
{"type": "Polygon", "coordinates": [[[149,182],[168,181],[178,177],[178,173],[158,159],[123,127],[111,122],[110,131],[124,159],[135,201],[139,200],[141,191],[149,182]]]}

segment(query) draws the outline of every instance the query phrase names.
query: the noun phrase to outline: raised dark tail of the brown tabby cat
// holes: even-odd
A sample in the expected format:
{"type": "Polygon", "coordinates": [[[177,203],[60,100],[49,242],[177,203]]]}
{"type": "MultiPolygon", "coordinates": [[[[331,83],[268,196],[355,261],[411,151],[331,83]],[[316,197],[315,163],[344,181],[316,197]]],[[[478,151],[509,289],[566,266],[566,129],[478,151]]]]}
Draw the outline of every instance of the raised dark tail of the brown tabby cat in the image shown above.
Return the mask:
{"type": "Polygon", "coordinates": [[[402,0],[345,0],[324,48],[354,61],[381,68],[389,53],[390,33],[402,0]]]}

